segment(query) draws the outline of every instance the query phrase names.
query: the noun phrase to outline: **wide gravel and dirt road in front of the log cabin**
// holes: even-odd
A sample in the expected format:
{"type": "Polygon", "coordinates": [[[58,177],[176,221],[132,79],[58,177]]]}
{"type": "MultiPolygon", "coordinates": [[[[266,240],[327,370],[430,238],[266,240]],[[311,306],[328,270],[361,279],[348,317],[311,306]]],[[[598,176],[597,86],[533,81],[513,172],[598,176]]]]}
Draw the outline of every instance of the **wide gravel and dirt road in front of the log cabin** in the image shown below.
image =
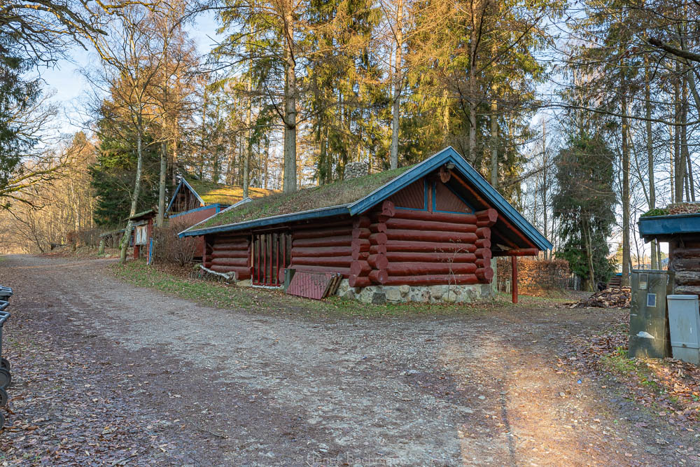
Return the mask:
{"type": "Polygon", "coordinates": [[[556,364],[568,335],[619,311],[275,318],[136,288],[107,264],[0,262],[0,284],[15,289],[6,332],[25,349],[10,344],[10,360],[70,370],[47,382],[15,363],[6,447],[34,449],[22,445],[27,424],[47,413],[31,432],[52,464],[71,461],[62,431],[95,465],[699,464],[694,433],[556,364]],[[59,388],[48,408],[36,397],[47,384],[59,388]],[[105,419],[118,447],[95,432],[105,419]]]}

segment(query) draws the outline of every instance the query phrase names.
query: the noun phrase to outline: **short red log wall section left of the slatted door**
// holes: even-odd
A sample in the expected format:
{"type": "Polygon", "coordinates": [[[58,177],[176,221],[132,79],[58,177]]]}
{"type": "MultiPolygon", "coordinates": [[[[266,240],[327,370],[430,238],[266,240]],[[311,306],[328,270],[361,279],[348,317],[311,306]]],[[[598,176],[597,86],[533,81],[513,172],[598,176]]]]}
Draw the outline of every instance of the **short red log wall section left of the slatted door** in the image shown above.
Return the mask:
{"type": "Polygon", "coordinates": [[[206,235],[202,264],[216,272],[235,272],[236,280],[251,279],[250,235],[206,235]]]}

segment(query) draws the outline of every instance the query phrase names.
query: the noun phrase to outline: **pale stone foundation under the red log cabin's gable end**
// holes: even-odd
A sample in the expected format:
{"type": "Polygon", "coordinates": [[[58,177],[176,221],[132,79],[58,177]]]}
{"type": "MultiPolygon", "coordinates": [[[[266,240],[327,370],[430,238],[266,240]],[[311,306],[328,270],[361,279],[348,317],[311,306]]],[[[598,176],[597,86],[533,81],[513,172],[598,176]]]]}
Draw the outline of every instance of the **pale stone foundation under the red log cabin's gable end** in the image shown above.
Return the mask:
{"type": "Polygon", "coordinates": [[[369,286],[351,287],[343,279],[337,295],[364,303],[465,303],[491,298],[491,284],[469,284],[462,286],[369,286]]]}

